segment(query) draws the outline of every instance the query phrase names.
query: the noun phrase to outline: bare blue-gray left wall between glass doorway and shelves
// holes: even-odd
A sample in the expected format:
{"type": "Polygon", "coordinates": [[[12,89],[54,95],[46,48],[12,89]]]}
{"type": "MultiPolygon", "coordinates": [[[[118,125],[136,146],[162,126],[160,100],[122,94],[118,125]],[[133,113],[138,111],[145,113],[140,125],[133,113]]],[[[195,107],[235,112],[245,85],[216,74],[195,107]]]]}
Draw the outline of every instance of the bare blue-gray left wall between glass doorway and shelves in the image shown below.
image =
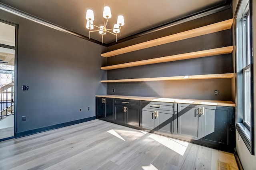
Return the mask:
{"type": "Polygon", "coordinates": [[[95,95],[106,94],[106,47],[2,10],[0,19],[19,24],[17,132],[95,116],[95,95]]]}

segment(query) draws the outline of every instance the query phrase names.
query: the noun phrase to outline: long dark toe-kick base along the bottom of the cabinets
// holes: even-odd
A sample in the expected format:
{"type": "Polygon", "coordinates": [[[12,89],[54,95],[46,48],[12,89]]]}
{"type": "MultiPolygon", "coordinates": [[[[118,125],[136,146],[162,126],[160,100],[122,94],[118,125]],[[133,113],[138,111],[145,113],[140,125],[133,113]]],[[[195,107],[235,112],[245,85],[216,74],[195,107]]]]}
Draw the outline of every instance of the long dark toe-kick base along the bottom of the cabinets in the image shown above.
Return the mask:
{"type": "Polygon", "coordinates": [[[226,144],[210,144],[210,143],[202,142],[200,140],[192,140],[192,139],[184,138],[184,137],[173,135],[173,134],[166,134],[166,133],[162,133],[162,132],[158,132],[158,131],[153,131],[153,130],[148,130],[148,129],[137,127],[137,126],[131,126],[129,124],[122,124],[122,123],[119,123],[119,122],[114,122],[112,120],[106,120],[104,118],[99,118],[99,119],[100,120],[104,120],[106,122],[111,122],[111,123],[114,123],[114,124],[119,124],[119,125],[122,125],[122,126],[126,126],[126,127],[129,127],[129,128],[134,128],[134,129],[137,129],[137,130],[144,130],[144,131],[149,132],[149,133],[159,134],[159,135],[162,135],[162,136],[166,136],[166,137],[170,137],[170,138],[175,138],[175,139],[178,139],[178,140],[183,140],[183,141],[190,142],[190,143],[193,143],[193,144],[198,144],[198,145],[201,145],[201,146],[206,146],[206,147],[217,149],[217,150],[222,150],[222,151],[225,151],[225,152],[230,152],[230,153],[234,153],[235,152],[234,144],[230,144],[230,145],[226,145],[226,144]]]}

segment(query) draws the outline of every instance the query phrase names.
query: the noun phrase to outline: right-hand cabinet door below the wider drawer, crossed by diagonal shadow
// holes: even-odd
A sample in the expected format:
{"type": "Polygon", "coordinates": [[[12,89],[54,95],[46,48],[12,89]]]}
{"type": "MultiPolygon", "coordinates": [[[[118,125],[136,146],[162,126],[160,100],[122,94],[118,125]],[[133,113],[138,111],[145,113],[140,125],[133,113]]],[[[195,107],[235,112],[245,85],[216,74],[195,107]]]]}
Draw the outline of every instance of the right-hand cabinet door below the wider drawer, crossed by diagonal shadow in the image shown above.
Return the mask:
{"type": "Polygon", "coordinates": [[[155,119],[155,127],[158,132],[177,134],[177,112],[157,110],[158,117],[155,119]]]}

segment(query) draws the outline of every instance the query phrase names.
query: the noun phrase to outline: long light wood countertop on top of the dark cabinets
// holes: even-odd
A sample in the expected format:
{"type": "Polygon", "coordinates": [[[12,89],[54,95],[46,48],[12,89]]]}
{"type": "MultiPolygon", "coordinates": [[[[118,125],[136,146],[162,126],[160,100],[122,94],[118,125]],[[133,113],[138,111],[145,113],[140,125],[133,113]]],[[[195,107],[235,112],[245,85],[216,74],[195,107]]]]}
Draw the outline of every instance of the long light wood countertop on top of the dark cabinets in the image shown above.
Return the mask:
{"type": "Polygon", "coordinates": [[[221,101],[221,100],[194,100],[194,99],[178,99],[178,98],[156,98],[156,97],[141,97],[141,96],[118,96],[118,95],[96,95],[96,97],[105,98],[121,98],[130,100],[146,100],[155,102],[170,102],[170,103],[184,103],[184,104],[202,104],[202,105],[212,105],[212,106],[233,106],[236,104],[231,101],[221,101]]]}

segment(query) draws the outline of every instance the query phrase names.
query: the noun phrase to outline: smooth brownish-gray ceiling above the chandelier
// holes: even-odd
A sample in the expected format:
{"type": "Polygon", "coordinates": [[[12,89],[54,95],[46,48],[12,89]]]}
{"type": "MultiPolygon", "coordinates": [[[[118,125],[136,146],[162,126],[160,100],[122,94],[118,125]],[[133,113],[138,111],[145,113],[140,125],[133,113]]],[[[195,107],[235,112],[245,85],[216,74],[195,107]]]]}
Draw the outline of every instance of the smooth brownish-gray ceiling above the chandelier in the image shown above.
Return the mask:
{"type": "MultiPolygon", "coordinates": [[[[103,24],[104,0],[0,0],[0,2],[87,37],[89,36],[88,29],[85,28],[87,9],[94,11],[95,25],[103,24]]],[[[106,6],[110,7],[112,13],[109,28],[116,23],[118,15],[124,16],[125,25],[122,26],[121,36],[118,35],[118,39],[121,39],[228,2],[229,0],[106,0],[106,6]]],[[[102,41],[98,32],[92,32],[91,38],[102,41]]],[[[114,35],[107,33],[104,36],[104,43],[114,41],[114,35]]]]}

